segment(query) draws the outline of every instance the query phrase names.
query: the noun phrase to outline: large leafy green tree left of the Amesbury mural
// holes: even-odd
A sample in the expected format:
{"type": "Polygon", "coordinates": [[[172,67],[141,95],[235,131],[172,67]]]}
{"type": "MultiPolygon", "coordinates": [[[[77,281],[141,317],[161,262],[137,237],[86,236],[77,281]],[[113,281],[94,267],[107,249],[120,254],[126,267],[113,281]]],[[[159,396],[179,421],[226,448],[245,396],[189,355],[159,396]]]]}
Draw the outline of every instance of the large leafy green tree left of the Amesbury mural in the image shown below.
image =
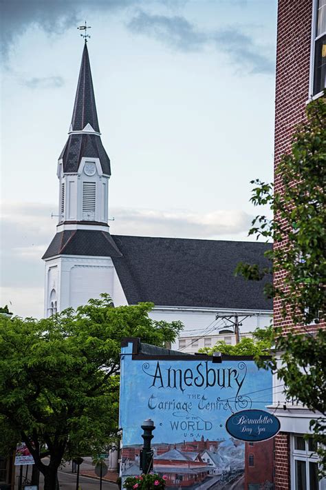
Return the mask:
{"type": "Polygon", "coordinates": [[[43,320],[0,317],[0,425],[25,442],[45,490],[65,458],[96,456],[116,440],[122,338],[164,346],[182,329],[151,320],[152,307],[115,308],[103,294],[43,320]]]}

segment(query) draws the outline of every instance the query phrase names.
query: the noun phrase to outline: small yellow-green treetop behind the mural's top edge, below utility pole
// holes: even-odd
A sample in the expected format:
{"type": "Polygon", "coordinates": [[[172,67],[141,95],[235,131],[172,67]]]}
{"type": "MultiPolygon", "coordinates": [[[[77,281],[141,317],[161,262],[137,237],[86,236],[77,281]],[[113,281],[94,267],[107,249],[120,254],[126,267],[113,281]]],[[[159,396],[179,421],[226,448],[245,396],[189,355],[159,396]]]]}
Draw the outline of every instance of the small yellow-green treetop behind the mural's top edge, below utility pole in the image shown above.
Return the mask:
{"type": "Polygon", "coordinates": [[[219,340],[213,347],[204,347],[199,349],[203,354],[212,355],[214,352],[221,352],[227,356],[268,356],[272,347],[273,340],[272,327],[266,329],[257,329],[254,331],[253,338],[242,338],[235,345],[226,344],[224,340],[219,340]]]}

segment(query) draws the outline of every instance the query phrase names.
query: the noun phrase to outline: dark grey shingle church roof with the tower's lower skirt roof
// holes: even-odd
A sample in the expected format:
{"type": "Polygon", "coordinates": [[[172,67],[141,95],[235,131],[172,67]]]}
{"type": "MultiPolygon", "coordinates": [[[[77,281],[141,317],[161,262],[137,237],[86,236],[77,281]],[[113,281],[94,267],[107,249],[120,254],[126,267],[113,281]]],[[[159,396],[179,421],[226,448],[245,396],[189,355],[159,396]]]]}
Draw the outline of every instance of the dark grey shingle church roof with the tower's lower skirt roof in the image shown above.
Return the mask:
{"type": "Polygon", "coordinates": [[[257,242],[110,236],[77,230],[56,234],[43,258],[58,254],[111,256],[130,305],[271,310],[263,282],[235,277],[239,262],[268,267],[257,242]]]}

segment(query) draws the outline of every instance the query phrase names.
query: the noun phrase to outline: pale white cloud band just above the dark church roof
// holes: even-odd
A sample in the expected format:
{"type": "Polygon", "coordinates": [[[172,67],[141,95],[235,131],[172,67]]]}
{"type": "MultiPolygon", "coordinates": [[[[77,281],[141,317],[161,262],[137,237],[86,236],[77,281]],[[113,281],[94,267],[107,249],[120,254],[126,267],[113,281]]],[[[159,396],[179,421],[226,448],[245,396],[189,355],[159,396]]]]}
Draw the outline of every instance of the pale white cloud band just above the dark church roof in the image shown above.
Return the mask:
{"type": "Polygon", "coordinates": [[[248,231],[252,216],[241,210],[218,210],[204,214],[188,211],[156,211],[116,208],[112,210],[114,234],[218,238],[248,231]]]}

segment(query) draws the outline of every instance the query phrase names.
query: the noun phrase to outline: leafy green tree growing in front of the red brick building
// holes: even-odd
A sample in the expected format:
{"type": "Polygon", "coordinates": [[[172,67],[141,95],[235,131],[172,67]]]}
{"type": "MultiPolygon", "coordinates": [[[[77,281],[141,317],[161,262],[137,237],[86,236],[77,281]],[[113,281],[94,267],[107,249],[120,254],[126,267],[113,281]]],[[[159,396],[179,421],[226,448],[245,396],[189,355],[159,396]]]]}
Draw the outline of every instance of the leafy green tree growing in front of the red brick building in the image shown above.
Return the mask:
{"type": "MultiPolygon", "coordinates": [[[[326,92],[325,92],[326,93],[326,92]]],[[[325,322],[325,169],[326,99],[307,105],[306,119],[293,135],[292,151],[285,154],[273,185],[259,180],[251,201],[268,205],[274,219],[254,218],[250,235],[274,241],[266,256],[276,274],[268,293],[281,306],[283,329],[275,331],[275,350],[281,362],[272,358],[268,367],[277,369],[289,399],[301,402],[323,417],[311,422],[318,452],[326,473],[326,330],[325,322]],[[280,367],[278,367],[280,366],[280,367]]],[[[237,273],[260,280],[267,270],[257,265],[239,264],[237,273]]],[[[266,367],[266,363],[265,363],[266,367]]]]}

